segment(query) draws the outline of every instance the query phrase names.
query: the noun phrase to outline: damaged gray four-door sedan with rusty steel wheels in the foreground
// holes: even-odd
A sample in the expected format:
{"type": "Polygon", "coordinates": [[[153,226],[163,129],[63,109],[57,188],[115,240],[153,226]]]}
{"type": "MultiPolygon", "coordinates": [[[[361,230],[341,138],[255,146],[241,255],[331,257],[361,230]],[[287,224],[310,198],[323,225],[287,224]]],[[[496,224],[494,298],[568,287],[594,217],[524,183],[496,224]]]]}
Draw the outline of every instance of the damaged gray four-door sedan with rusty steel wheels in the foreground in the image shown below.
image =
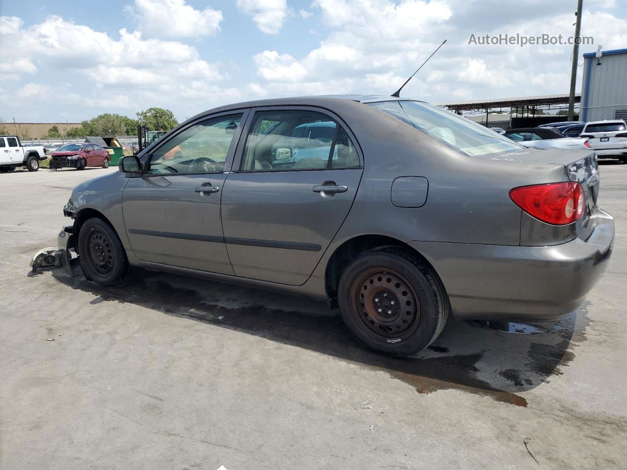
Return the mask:
{"type": "Polygon", "coordinates": [[[119,170],[63,209],[69,273],[75,251],[103,286],[141,267],[327,300],[362,343],[396,356],[427,347],[450,314],[574,310],[614,239],[593,152],[527,149],[401,98],[226,105],[119,170]]]}

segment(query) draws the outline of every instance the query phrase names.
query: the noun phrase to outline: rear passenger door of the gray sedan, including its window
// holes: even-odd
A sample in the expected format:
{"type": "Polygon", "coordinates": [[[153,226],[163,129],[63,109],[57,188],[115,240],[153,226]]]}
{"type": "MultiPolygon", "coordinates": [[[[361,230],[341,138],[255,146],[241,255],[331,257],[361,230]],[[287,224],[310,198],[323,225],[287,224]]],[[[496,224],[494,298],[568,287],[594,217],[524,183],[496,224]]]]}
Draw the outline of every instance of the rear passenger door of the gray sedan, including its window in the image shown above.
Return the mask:
{"type": "Polygon", "coordinates": [[[349,213],[361,150],[345,123],[319,108],[258,108],[243,132],[222,194],[234,273],[302,285],[349,213]]]}

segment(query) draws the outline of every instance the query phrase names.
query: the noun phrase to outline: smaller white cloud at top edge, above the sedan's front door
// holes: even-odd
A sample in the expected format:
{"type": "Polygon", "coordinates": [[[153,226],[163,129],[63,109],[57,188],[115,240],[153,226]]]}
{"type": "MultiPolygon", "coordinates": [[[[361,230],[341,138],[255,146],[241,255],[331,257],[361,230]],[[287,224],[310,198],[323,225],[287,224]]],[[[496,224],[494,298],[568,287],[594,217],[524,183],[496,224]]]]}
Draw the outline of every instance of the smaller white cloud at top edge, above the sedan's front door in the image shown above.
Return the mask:
{"type": "Polygon", "coordinates": [[[185,0],[135,0],[127,11],[139,20],[139,31],[154,38],[214,36],[222,21],[221,11],[197,10],[185,0]]]}

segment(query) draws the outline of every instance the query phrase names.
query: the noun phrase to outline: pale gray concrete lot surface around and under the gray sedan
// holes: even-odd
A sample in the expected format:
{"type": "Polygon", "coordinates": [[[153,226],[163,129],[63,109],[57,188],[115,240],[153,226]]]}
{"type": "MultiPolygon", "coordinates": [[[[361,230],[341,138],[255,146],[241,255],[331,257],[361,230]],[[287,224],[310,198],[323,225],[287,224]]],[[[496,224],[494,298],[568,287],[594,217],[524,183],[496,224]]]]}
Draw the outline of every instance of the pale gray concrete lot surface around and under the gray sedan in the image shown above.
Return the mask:
{"type": "Polygon", "coordinates": [[[585,305],[535,334],[450,321],[408,360],[364,351],[315,301],[27,277],[71,188],[115,170],[0,174],[1,468],[625,467],[627,165],[601,164],[617,234],[585,305]]]}

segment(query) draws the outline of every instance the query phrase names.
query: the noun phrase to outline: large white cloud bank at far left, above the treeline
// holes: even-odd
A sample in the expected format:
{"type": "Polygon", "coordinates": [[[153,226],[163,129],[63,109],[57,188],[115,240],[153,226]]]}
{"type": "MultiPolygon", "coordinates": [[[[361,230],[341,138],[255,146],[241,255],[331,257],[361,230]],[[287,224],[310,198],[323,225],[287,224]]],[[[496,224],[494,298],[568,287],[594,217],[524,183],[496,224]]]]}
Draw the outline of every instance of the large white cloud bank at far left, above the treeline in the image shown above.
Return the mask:
{"type": "Polygon", "coordinates": [[[208,100],[211,90],[216,95],[216,83],[225,76],[218,65],[201,59],[196,48],[177,41],[145,39],[139,31],[120,29],[119,37],[113,38],[59,16],[28,28],[21,28],[19,21],[8,23],[17,27],[2,36],[11,49],[3,48],[2,65],[6,67],[0,65],[0,80],[15,81],[20,75],[45,71],[50,76],[62,73],[70,81],[63,86],[28,83],[14,87],[10,96],[34,110],[40,108],[43,93],[46,103],[82,102],[91,107],[135,110],[180,106],[190,96],[208,100]],[[90,87],[88,98],[75,91],[90,87]]]}

